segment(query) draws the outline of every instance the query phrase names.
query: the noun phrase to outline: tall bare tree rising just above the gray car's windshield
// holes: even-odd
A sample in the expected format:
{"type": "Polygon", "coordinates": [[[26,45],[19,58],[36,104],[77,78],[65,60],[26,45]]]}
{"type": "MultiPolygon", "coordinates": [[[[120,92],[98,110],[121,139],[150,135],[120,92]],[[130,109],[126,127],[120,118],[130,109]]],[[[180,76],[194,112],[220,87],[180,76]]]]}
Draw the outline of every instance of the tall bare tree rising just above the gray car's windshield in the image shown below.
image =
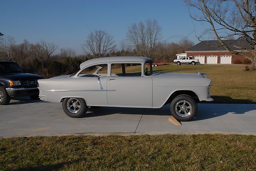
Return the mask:
{"type": "Polygon", "coordinates": [[[161,39],[161,27],[157,20],[146,20],[129,27],[126,38],[130,45],[142,56],[152,57],[161,39]]]}

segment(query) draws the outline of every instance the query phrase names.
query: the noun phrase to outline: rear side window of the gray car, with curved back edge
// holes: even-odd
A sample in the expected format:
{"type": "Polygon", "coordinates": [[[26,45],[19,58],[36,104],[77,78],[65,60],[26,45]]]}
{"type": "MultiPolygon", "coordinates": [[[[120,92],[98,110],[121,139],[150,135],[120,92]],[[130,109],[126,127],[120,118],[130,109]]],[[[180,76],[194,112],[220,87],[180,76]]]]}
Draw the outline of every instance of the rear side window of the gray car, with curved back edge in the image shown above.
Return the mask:
{"type": "Polygon", "coordinates": [[[108,76],[108,65],[101,64],[88,67],[79,73],[78,77],[100,77],[108,76]]]}

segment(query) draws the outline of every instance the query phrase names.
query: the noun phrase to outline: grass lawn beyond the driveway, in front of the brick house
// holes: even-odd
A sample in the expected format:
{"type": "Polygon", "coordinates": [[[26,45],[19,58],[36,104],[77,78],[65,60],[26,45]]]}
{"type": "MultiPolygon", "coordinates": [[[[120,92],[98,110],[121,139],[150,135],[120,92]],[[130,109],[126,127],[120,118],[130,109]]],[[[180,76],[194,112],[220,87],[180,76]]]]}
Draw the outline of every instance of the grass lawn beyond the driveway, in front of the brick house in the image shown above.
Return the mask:
{"type": "MultiPolygon", "coordinates": [[[[140,68],[138,68],[139,70],[140,68]]],[[[244,71],[242,65],[166,65],[154,71],[205,73],[211,79],[212,103],[256,103],[256,70],[244,71]]],[[[137,71],[137,70],[136,70],[137,71]]]]}

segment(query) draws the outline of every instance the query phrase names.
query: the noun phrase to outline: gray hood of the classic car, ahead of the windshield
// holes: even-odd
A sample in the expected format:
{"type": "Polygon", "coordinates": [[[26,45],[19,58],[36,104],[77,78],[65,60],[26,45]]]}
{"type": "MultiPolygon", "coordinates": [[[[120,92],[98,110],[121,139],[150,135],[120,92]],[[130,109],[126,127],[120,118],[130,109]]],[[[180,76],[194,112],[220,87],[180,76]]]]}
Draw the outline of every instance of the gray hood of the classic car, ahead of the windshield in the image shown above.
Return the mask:
{"type": "Polygon", "coordinates": [[[187,74],[187,73],[156,73],[152,75],[153,77],[188,77],[188,78],[202,78],[206,77],[203,73],[198,74],[187,74]]]}

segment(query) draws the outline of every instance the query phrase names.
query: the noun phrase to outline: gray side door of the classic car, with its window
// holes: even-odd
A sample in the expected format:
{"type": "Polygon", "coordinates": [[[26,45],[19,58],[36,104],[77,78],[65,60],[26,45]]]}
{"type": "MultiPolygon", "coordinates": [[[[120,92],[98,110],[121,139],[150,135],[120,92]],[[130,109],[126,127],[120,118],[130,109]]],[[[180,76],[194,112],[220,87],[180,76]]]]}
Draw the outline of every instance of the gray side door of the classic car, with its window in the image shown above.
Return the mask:
{"type": "Polygon", "coordinates": [[[134,66],[136,71],[130,66],[126,71],[119,69],[118,74],[112,72],[113,64],[111,66],[111,76],[107,83],[107,89],[111,90],[107,92],[109,106],[152,108],[152,78],[142,76],[141,64],[134,66]]]}

